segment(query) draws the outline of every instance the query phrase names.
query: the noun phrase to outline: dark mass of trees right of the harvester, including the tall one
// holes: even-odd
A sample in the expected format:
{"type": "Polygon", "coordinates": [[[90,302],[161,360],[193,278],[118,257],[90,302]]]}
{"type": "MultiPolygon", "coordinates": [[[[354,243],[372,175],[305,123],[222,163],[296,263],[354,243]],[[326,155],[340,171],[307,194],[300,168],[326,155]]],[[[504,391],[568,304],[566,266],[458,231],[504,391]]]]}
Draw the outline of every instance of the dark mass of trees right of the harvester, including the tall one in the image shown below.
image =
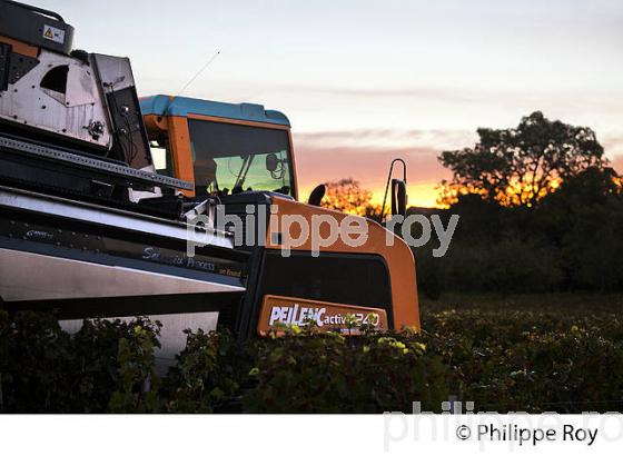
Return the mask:
{"type": "Polygon", "coordinates": [[[473,148],[438,157],[453,178],[435,212],[461,219],[443,258],[431,255],[436,246],[415,249],[421,289],[433,298],[623,289],[621,178],[595,132],[538,111],[477,132],[473,148]]]}

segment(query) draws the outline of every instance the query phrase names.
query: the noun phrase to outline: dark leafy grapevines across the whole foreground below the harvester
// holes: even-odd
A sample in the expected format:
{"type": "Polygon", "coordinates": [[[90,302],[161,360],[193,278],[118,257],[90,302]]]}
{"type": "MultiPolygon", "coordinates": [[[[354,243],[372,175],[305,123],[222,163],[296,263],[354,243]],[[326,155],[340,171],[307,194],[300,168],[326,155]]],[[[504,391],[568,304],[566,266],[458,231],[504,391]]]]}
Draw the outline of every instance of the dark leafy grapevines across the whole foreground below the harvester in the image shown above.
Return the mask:
{"type": "MultiPolygon", "coordinates": [[[[188,333],[167,373],[159,324],[95,320],[75,335],[50,315],[0,314],[6,413],[623,410],[621,296],[449,296],[422,304],[422,334],[358,338],[290,328],[238,343],[188,333]]],[[[366,328],[364,328],[366,329],[366,328]]]]}

